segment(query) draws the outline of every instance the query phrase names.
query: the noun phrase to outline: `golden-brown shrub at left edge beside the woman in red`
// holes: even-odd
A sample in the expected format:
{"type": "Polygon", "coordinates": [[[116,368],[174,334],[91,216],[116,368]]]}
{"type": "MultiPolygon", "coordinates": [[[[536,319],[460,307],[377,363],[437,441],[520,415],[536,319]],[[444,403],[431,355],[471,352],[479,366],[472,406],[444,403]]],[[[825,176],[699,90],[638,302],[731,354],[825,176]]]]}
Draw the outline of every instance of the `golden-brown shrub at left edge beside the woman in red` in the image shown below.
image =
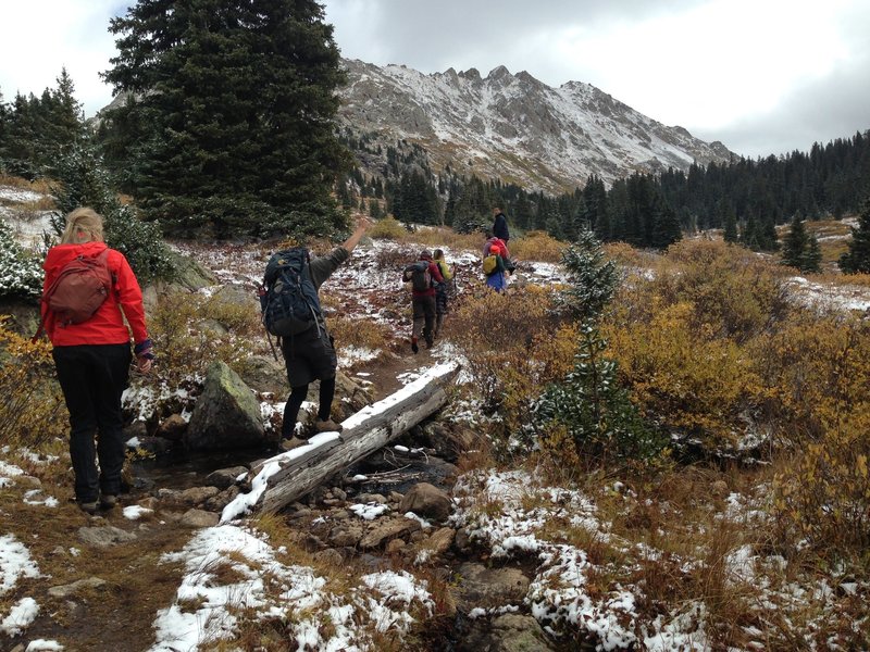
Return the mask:
{"type": "Polygon", "coordinates": [[[0,317],[0,442],[40,450],[64,437],[69,425],[51,344],[8,329],[7,318],[0,317]]]}

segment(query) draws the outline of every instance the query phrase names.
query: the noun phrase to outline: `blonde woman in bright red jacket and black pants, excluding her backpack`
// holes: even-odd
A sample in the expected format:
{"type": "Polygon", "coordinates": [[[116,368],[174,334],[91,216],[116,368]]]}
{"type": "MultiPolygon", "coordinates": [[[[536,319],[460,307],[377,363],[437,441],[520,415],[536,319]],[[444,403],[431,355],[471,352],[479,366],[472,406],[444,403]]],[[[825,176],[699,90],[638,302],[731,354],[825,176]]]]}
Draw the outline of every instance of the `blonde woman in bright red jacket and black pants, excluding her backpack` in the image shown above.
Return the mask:
{"type": "Polygon", "coordinates": [[[46,290],[70,261],[79,255],[96,258],[105,250],[112,290],[94,316],[67,324],[46,302],[41,306],[58,380],[70,412],[75,498],[88,514],[97,512],[98,500],[103,509],[113,507],[121,491],[124,463],[121,394],[129,377],[129,330],[136,342],[134,352],[139,371],[148,373],[154,356],[145,326],[139,283],[124,254],[103,242],[102,217],[92,209],[76,209],[66,216],[61,243],[49,250],[42,265],[46,290]],[[95,457],[99,457],[99,473],[95,457]]]}

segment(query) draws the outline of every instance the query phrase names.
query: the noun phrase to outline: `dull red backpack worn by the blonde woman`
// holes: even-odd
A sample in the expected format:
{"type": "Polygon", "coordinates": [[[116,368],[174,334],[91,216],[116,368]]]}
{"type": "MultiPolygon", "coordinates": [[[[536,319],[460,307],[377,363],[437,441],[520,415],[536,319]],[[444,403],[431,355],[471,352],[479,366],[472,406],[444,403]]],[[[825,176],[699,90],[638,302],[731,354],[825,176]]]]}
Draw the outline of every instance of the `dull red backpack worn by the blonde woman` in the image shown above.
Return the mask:
{"type": "MultiPolygon", "coordinates": [[[[79,254],[66,263],[54,283],[46,288],[42,303],[62,326],[80,324],[102,305],[113,283],[108,248],[95,256],[79,254]]],[[[44,317],[34,339],[42,334],[45,322],[44,317]]]]}

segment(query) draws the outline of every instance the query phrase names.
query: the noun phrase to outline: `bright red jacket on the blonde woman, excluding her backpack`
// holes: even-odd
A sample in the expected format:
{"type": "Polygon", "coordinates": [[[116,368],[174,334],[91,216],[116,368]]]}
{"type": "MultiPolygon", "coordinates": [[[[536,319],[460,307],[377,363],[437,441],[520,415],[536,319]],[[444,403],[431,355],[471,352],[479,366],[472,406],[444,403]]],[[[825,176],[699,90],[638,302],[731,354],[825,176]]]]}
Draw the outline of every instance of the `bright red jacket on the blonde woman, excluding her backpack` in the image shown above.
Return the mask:
{"type": "MultiPolygon", "coordinates": [[[[103,249],[108,249],[105,242],[84,242],[82,244],[58,244],[52,247],[42,268],[46,271],[46,279],[42,290],[54,283],[63,266],[79,254],[94,256],[103,249]]],[[[130,269],[124,254],[114,249],[109,249],[107,264],[112,273],[114,291],[97,309],[94,316],[82,324],[70,324],[63,326],[57,322],[53,313],[44,303],[41,305],[42,318],[46,323],[46,334],[55,347],[75,347],[78,344],[124,344],[129,342],[129,330],[133,330],[134,341],[139,342],[148,339],[148,331],[145,327],[145,309],[142,308],[142,291],[139,281],[130,269]],[[124,311],[123,314],[121,311],[124,311]],[[129,323],[129,329],[124,323],[124,317],[129,323]]]]}

